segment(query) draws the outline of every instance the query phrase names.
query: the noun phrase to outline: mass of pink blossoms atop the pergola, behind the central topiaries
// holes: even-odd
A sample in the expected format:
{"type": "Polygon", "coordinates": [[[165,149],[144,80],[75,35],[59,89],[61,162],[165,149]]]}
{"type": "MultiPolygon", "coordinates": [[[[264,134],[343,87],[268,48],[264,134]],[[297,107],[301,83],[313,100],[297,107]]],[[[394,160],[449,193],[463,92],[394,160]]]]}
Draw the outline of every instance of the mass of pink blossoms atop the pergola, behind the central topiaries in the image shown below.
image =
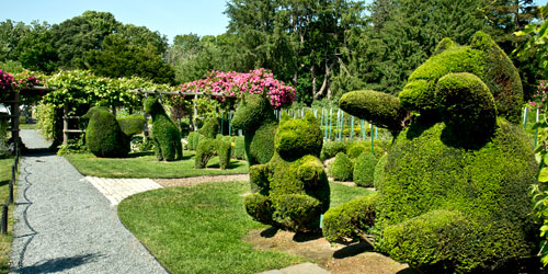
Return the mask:
{"type": "MultiPolygon", "coordinates": [[[[266,95],[275,110],[290,105],[295,100],[295,88],[274,79],[265,69],[251,70],[248,73],[236,71],[212,71],[205,79],[181,84],[181,92],[224,93],[230,96],[242,96],[244,93],[258,94],[266,91],[266,95]]],[[[225,98],[215,98],[224,102],[225,98]]]]}

